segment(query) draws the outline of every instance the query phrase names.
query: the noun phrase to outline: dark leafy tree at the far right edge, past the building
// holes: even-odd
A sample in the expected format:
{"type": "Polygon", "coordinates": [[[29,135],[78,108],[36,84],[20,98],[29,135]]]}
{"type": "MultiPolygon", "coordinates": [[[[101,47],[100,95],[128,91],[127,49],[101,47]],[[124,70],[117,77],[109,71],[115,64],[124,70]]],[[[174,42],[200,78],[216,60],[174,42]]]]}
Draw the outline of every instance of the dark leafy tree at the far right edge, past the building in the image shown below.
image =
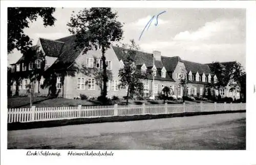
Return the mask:
{"type": "Polygon", "coordinates": [[[246,72],[238,62],[234,63],[230,72],[230,91],[240,92],[240,98],[246,101],[246,72]]]}

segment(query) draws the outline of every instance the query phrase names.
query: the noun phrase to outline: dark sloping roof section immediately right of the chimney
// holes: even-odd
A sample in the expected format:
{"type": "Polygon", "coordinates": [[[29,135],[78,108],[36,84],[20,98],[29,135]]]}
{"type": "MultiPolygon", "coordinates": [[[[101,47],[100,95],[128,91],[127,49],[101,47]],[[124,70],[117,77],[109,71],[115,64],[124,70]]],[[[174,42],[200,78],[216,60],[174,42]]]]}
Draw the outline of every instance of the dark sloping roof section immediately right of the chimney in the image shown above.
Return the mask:
{"type": "Polygon", "coordinates": [[[172,72],[175,70],[177,64],[179,61],[181,61],[179,56],[175,56],[175,57],[161,57],[163,66],[165,67],[167,72],[172,72]]]}

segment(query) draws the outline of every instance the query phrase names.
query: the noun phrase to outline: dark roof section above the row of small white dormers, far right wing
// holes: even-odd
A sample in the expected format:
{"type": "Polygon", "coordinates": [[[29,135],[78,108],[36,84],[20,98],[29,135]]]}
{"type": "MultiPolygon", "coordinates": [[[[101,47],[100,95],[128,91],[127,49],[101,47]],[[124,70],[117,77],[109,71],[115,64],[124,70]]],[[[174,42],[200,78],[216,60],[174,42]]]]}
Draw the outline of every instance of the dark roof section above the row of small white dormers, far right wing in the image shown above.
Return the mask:
{"type": "Polygon", "coordinates": [[[186,70],[189,72],[191,71],[192,73],[199,73],[199,74],[209,74],[210,73],[210,68],[206,64],[200,64],[200,63],[195,63],[191,61],[186,61],[182,60],[181,62],[184,63],[186,70]]]}

